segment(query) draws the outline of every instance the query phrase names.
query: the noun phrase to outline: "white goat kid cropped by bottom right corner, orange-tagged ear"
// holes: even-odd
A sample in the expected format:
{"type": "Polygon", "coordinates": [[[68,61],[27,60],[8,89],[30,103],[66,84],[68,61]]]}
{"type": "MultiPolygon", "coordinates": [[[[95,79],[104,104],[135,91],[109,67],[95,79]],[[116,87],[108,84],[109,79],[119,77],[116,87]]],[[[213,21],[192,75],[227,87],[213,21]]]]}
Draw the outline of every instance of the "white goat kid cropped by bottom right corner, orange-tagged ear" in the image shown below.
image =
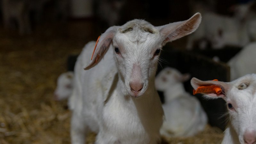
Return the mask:
{"type": "Polygon", "coordinates": [[[248,74],[228,83],[192,78],[191,85],[194,89],[205,85],[221,87],[222,93],[208,93],[206,97],[222,98],[227,102],[230,116],[222,144],[256,143],[256,74],[248,74]]]}

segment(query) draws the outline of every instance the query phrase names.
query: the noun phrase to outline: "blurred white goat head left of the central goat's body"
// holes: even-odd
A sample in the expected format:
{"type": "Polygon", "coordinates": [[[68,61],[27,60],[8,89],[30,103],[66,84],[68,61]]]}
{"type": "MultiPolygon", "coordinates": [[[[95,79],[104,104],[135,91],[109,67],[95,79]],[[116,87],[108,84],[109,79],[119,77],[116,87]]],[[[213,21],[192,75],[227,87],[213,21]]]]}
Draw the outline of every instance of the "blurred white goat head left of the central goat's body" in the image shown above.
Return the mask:
{"type": "Polygon", "coordinates": [[[70,97],[73,91],[73,77],[74,73],[68,71],[62,73],[57,79],[57,87],[54,91],[56,100],[65,100],[70,97]]]}

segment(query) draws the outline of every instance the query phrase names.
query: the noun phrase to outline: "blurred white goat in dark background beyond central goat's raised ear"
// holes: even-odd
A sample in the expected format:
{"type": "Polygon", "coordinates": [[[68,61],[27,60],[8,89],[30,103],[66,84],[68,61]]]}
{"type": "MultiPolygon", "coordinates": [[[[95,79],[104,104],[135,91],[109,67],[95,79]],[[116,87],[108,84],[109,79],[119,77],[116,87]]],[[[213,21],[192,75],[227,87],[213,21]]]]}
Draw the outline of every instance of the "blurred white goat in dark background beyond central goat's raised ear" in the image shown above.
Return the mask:
{"type": "MultiPolygon", "coordinates": [[[[200,27],[188,36],[186,48],[191,50],[194,44],[202,39],[208,40],[213,49],[224,46],[242,47],[250,42],[246,22],[242,23],[236,18],[215,13],[204,13],[200,27]]],[[[205,49],[205,46],[200,48],[205,49]]]]}

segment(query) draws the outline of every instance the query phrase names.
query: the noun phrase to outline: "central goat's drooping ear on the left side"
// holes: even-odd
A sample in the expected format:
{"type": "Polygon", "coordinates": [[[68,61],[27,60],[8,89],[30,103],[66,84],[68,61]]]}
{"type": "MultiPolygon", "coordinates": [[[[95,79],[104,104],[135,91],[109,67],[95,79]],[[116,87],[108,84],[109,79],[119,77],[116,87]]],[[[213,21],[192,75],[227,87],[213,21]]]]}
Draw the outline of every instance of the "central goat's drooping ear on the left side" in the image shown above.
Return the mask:
{"type": "Polygon", "coordinates": [[[109,49],[109,45],[112,42],[112,38],[115,35],[118,27],[112,26],[108,28],[99,38],[98,44],[95,48],[95,53],[92,57],[91,62],[87,67],[85,67],[85,70],[88,70],[90,68],[93,68],[105,55],[105,53],[109,49]]]}

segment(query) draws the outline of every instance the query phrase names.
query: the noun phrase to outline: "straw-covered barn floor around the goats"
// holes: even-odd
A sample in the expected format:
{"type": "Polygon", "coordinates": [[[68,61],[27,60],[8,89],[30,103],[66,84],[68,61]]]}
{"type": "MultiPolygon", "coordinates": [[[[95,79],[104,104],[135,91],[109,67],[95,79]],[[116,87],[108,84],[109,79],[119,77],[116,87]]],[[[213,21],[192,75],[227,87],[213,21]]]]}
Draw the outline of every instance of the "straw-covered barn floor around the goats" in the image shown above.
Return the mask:
{"type": "MultiPolygon", "coordinates": [[[[67,57],[101,32],[87,21],[48,26],[26,36],[0,26],[0,144],[70,143],[71,113],[67,101],[54,100],[56,79],[66,71],[67,57]]],[[[207,126],[194,137],[162,143],[217,144],[222,137],[221,130],[207,126]]]]}

